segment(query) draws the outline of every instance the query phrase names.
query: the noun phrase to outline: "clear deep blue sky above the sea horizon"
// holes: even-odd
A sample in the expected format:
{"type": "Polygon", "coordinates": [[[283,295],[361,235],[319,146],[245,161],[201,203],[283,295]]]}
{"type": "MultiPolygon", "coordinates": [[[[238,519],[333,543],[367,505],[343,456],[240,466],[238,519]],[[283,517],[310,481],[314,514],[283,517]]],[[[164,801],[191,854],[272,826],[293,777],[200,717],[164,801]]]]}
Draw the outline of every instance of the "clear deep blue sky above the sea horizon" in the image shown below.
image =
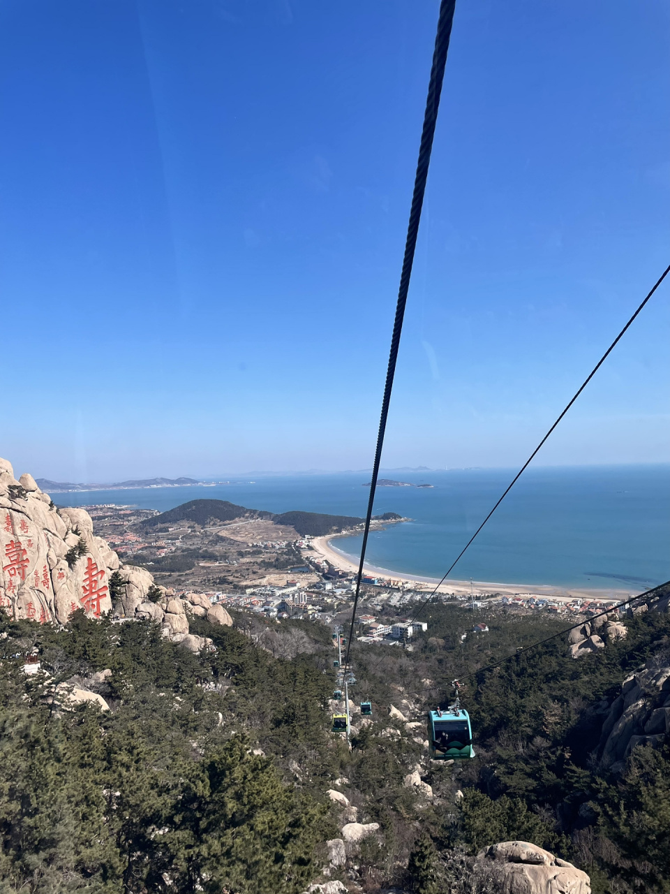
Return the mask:
{"type": "MultiPolygon", "coordinates": [[[[437,10],[0,4],[0,454],[369,468],[437,10]]],[[[665,268],[667,31],[459,0],[387,468],[523,461],[665,268]]],[[[669,322],[664,286],[540,463],[667,460],[669,322]]]]}

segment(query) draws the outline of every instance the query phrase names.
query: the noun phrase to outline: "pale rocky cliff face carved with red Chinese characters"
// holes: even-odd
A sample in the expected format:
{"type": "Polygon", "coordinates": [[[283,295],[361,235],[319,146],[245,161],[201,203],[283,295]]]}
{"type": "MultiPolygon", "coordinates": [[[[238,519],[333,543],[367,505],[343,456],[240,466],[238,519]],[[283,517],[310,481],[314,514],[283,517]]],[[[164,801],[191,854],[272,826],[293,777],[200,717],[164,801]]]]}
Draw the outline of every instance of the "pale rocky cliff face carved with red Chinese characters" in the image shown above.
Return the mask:
{"type": "Polygon", "coordinates": [[[206,596],[175,598],[155,587],[146,569],[122,565],[105,540],[94,535],[88,512],[57,510],[32,476],[17,480],[2,459],[0,569],[0,607],[17,620],[65,624],[78,609],[96,618],[113,611],[120,618],[156,620],[166,636],[194,649],[207,643],[189,635],[189,613],[232,624],[228,612],[206,596]]]}

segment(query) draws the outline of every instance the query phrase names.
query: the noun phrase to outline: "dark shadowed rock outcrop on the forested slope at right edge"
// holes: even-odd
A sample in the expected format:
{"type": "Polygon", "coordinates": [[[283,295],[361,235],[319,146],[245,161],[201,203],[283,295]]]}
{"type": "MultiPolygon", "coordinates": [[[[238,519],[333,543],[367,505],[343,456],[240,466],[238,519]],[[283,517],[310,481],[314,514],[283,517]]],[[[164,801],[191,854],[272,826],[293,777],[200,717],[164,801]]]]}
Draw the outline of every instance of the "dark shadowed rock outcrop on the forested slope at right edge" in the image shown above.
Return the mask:
{"type": "Polygon", "coordinates": [[[649,659],[645,667],[624,680],[610,705],[600,736],[600,759],[614,772],[638,745],[660,747],[670,734],[670,666],[649,659]]]}

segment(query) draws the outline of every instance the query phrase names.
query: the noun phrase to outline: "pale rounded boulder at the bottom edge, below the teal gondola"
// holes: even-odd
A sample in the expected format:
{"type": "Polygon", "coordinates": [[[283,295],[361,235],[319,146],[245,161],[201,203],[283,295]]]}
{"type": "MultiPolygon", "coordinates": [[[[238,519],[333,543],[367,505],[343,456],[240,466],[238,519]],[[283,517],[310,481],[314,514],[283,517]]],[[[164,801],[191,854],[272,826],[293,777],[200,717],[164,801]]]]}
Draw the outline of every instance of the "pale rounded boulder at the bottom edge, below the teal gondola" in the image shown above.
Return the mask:
{"type": "Polygon", "coordinates": [[[528,841],[493,844],[478,859],[498,865],[500,894],[590,894],[586,873],[528,841]]]}

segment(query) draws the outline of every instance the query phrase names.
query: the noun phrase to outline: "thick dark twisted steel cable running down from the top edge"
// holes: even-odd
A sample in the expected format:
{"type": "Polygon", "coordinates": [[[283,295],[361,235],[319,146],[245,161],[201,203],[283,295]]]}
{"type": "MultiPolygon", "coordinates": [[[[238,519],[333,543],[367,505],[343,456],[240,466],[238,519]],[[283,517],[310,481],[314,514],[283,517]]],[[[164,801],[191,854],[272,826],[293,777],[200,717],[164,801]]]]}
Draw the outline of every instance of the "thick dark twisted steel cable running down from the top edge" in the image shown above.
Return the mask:
{"type": "Polygon", "coordinates": [[[438,109],[440,108],[440,94],[442,92],[442,81],[444,80],[444,69],[447,63],[449,38],[451,36],[451,26],[454,21],[455,7],[456,0],[442,0],[440,4],[440,16],[438,18],[438,29],[435,37],[435,49],[432,55],[431,79],[428,84],[428,97],[426,99],[425,113],[423,114],[423,131],[419,146],[419,157],[416,164],[415,188],[412,196],[412,207],[409,213],[409,223],[407,225],[405,257],[403,258],[402,274],[400,275],[396,316],[393,323],[393,334],[391,336],[389,350],[389,366],[386,373],[384,395],[381,401],[381,417],[379,432],[377,434],[377,447],[374,452],[373,477],[370,481],[370,496],[368,498],[367,512],[365,513],[361,559],[358,565],[358,574],[356,576],[356,594],[354,595],[354,608],[351,614],[347,654],[345,655],[344,660],[345,668],[348,667],[349,650],[351,648],[352,637],[354,636],[356,608],[358,606],[358,597],[361,592],[361,579],[363,578],[365,548],[370,533],[370,522],[373,518],[374,493],[377,489],[377,478],[379,477],[381,449],[384,443],[384,434],[386,433],[386,421],[389,416],[389,402],[391,391],[393,390],[393,378],[396,372],[396,361],[398,359],[400,335],[402,334],[403,319],[405,316],[407,291],[409,290],[409,281],[412,275],[412,266],[415,259],[416,239],[419,233],[419,223],[421,221],[423,195],[425,193],[426,181],[428,179],[428,167],[431,164],[432,140],[435,136],[435,124],[438,118],[438,109]]]}

